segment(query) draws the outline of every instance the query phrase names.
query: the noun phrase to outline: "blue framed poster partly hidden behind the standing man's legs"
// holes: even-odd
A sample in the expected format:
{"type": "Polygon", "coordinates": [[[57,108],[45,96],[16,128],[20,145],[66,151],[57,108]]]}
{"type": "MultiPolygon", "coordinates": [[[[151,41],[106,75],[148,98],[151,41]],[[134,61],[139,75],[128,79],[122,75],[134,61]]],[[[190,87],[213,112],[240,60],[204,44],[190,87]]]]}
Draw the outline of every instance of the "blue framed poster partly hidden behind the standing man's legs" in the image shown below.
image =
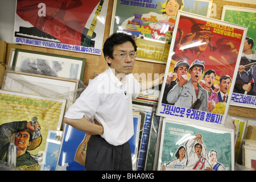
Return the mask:
{"type": "MultiPolygon", "coordinates": [[[[141,126],[141,115],[134,113],[134,135],[129,140],[131,147],[131,159],[133,170],[136,169],[139,127],[141,126]]],[[[57,161],[57,171],[84,171],[86,148],[90,135],[83,131],[77,130],[70,125],[65,125],[64,137],[61,143],[59,159],[57,161]]]]}

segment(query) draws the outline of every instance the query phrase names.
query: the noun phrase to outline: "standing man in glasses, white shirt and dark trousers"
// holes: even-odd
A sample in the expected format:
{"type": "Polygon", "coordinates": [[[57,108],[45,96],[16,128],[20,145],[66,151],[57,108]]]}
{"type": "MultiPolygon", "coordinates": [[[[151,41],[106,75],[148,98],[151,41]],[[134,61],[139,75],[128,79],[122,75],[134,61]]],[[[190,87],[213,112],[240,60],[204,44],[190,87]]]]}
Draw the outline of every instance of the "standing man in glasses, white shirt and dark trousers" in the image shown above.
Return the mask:
{"type": "MultiPolygon", "coordinates": [[[[115,33],[104,43],[110,66],[86,87],[69,108],[64,122],[92,135],[86,149],[86,170],[132,170],[128,140],[134,134],[132,98],[141,85],[131,72],[137,46],[131,36],[115,33]],[[93,118],[95,123],[87,119],[93,118]]],[[[163,76],[159,76],[162,84],[163,76]]],[[[152,81],[152,84],[155,84],[152,81]]],[[[150,86],[154,86],[148,84],[150,86]]]]}

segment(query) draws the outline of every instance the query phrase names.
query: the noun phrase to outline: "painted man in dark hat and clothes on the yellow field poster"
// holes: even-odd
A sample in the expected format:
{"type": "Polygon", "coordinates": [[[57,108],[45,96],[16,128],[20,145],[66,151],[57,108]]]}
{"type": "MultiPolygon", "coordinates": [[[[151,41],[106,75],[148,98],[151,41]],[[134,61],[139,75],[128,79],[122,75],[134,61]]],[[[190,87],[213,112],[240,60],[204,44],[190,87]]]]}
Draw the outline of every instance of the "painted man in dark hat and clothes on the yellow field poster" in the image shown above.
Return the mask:
{"type": "Polygon", "coordinates": [[[39,132],[40,125],[36,117],[33,117],[30,122],[3,123],[0,126],[0,160],[10,162],[16,167],[38,165],[28,151],[40,146],[42,135],[36,134],[39,132]]]}

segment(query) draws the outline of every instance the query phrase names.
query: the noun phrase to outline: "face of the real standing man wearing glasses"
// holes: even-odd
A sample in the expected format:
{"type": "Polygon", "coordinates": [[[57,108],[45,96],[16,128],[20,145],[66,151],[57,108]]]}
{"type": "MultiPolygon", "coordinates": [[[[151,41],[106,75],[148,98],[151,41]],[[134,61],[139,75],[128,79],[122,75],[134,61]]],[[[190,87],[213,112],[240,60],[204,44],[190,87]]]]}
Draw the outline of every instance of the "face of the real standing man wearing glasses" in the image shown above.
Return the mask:
{"type": "Polygon", "coordinates": [[[113,57],[112,59],[109,56],[106,56],[106,61],[111,65],[112,69],[115,69],[115,76],[117,76],[118,73],[123,73],[125,75],[133,72],[134,63],[135,63],[135,57],[134,59],[131,59],[129,55],[127,55],[127,58],[125,60],[121,60],[118,55],[120,54],[127,54],[134,52],[134,47],[131,42],[125,42],[119,45],[114,46],[113,48],[113,57]]]}

